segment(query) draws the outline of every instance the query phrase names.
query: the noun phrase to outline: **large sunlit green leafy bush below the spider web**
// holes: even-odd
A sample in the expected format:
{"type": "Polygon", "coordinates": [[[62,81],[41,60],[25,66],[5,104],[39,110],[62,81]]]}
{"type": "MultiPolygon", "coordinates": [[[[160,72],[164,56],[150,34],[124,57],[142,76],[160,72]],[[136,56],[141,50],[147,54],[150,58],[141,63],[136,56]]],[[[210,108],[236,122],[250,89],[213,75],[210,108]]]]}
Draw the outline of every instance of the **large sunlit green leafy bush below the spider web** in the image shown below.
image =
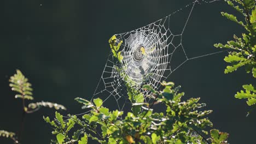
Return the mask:
{"type": "MultiPolygon", "coordinates": [[[[149,85],[143,89],[151,91],[147,97],[154,98],[153,103],[133,103],[141,111],[134,112],[109,111],[100,98],[88,101],[76,98],[83,104],[83,109],[90,113],[78,118],[69,115],[64,121],[60,113],[50,121],[45,121],[54,128],[56,140],[53,143],[79,143],[82,139],[92,139],[98,143],[227,143],[228,134],[211,133],[206,128],[212,127],[212,122],[206,117],[211,110],[202,110],[206,105],[198,103],[199,98],[182,101],[184,93],[179,93],[180,87],[174,87],[172,82],[162,82],[164,89],[155,91],[149,85]],[[153,105],[163,104],[163,112],[154,112],[153,105]],[[77,125],[79,128],[73,134],[68,132],[77,125]],[[225,136],[224,136],[225,135],[225,136]],[[207,137],[208,136],[208,137],[207,137]],[[86,137],[86,138],[85,138],[86,137]],[[208,139],[207,139],[208,138],[208,139]],[[225,138],[225,139],[224,139],[225,138]]],[[[214,131],[214,130],[212,130],[214,131]]]]}

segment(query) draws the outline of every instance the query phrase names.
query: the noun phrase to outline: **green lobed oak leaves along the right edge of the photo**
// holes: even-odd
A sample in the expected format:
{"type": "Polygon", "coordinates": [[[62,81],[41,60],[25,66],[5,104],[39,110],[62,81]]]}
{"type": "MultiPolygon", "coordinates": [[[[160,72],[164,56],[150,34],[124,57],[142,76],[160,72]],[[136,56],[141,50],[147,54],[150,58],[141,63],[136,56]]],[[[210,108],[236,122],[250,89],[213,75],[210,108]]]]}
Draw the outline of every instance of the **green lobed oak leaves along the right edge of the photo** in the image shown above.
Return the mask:
{"type": "MultiPolygon", "coordinates": [[[[256,77],[256,1],[255,0],[225,0],[232,8],[240,13],[244,20],[239,21],[237,17],[232,14],[221,14],[227,19],[238,23],[245,29],[245,33],[242,33],[242,37],[234,35],[234,40],[230,40],[227,44],[215,44],[214,46],[231,50],[229,55],[224,58],[224,61],[230,63],[224,71],[225,74],[232,73],[240,67],[245,67],[247,73],[252,73],[253,77],[256,77]]],[[[255,91],[254,86],[243,85],[245,91],[237,92],[235,98],[248,99],[248,105],[254,105],[255,91]]]]}

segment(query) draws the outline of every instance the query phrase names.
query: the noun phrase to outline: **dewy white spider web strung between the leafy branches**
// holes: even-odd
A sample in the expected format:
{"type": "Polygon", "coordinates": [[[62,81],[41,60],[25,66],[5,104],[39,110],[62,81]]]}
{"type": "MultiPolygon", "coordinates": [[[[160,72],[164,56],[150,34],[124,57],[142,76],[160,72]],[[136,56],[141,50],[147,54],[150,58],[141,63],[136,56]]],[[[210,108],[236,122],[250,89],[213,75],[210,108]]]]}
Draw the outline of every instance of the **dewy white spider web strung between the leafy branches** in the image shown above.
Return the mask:
{"type": "MultiPolygon", "coordinates": [[[[94,98],[101,98],[103,102],[113,100],[120,111],[124,109],[127,103],[130,103],[127,98],[124,77],[120,76],[117,66],[123,68],[122,73],[125,73],[128,79],[135,82],[133,88],[144,95],[148,95],[150,92],[141,89],[143,85],[147,84],[154,89],[159,89],[161,82],[187,61],[223,52],[207,53],[196,57],[187,55],[187,49],[182,44],[182,36],[191,13],[198,3],[199,1],[194,1],[186,5],[185,8],[179,9],[147,26],[130,32],[115,34],[118,42],[123,41],[120,46],[123,61],[119,63],[110,51],[91,100],[94,98]],[[176,21],[173,21],[173,16],[182,10],[188,12],[185,14],[187,16],[184,16],[184,23],[178,23],[179,28],[174,28],[172,25],[176,21]],[[180,31],[177,31],[177,29],[180,31]]],[[[148,101],[147,98],[145,100],[148,101]]],[[[114,103],[111,104],[112,106],[115,105],[114,103]]]]}

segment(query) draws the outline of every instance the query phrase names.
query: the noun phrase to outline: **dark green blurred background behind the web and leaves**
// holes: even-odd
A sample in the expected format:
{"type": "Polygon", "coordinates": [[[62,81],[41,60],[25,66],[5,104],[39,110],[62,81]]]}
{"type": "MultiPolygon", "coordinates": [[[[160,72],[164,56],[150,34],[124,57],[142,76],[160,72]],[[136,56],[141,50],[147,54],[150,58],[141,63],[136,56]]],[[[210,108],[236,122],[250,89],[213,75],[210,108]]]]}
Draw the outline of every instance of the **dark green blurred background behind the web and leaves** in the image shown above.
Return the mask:
{"type": "MultiPolygon", "coordinates": [[[[0,129],[16,132],[20,127],[21,100],[14,99],[8,86],[15,69],[29,78],[37,101],[63,104],[68,109],[63,113],[84,112],[74,98],[93,94],[108,57],[108,39],[154,22],[191,2],[4,1],[0,24],[0,129]]],[[[234,33],[243,31],[224,19],[220,11],[236,13],[224,2],[196,5],[183,35],[188,56],[219,51],[214,43],[225,43],[234,33]]],[[[256,112],[246,117],[246,101],[234,98],[243,84],[255,81],[243,69],[225,75],[225,55],[188,61],[168,80],[182,86],[185,99],[201,97],[207,109],[213,110],[210,119],[214,128],[230,133],[230,143],[256,143],[256,112]]],[[[54,110],[27,115],[23,143],[50,143],[53,136],[43,115],[53,117],[54,110]]],[[[11,141],[0,138],[0,143],[11,141]]]]}

